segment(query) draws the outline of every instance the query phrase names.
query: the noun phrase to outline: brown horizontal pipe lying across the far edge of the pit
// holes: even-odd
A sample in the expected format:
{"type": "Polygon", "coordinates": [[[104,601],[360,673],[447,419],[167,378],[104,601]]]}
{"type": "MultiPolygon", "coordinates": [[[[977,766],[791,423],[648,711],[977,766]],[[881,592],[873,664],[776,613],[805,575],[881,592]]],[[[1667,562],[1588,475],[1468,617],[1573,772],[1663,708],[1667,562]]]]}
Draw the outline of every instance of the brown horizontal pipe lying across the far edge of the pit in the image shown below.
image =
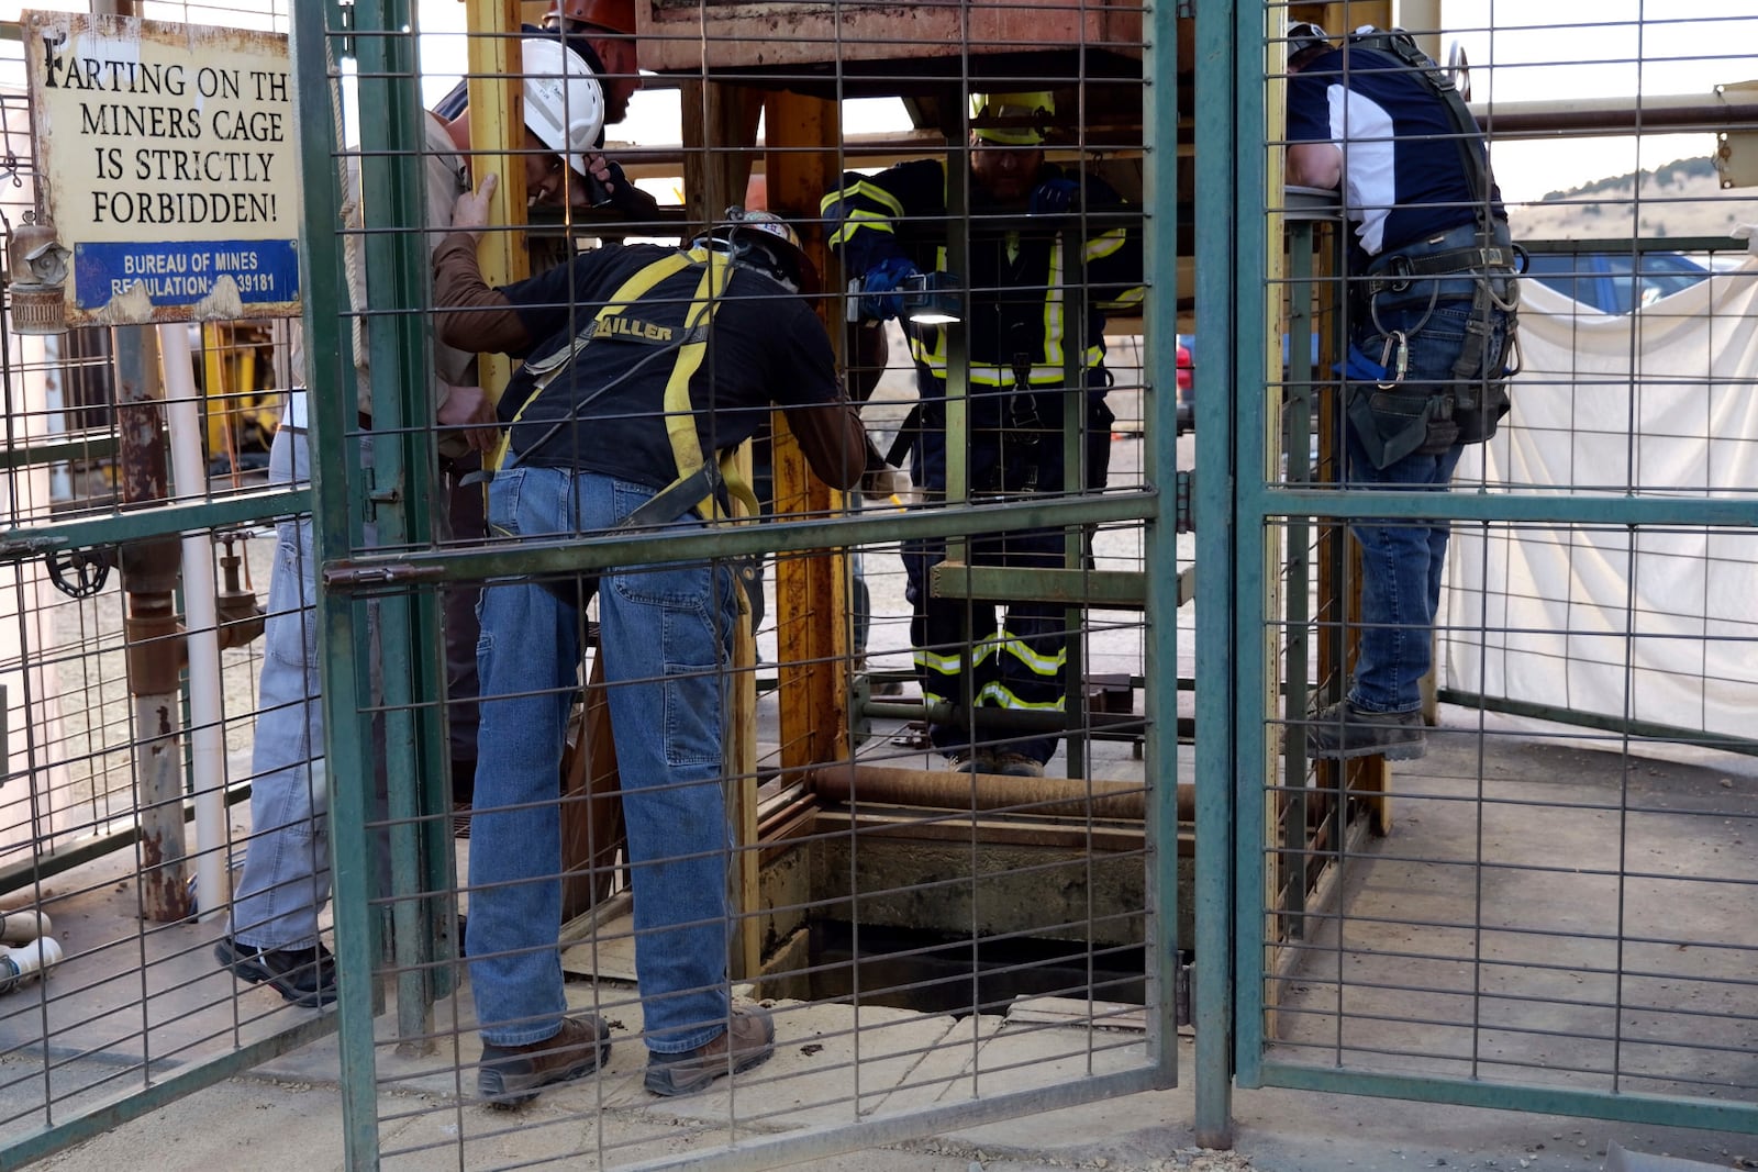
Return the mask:
{"type": "MultiPolygon", "coordinates": [[[[805,785],[828,801],[877,801],[930,810],[1011,810],[1129,822],[1143,821],[1148,810],[1148,791],[1143,785],[1078,777],[953,773],[842,761],[807,771],[805,785]]],[[[1178,784],[1181,822],[1195,817],[1195,784],[1178,784]]]]}

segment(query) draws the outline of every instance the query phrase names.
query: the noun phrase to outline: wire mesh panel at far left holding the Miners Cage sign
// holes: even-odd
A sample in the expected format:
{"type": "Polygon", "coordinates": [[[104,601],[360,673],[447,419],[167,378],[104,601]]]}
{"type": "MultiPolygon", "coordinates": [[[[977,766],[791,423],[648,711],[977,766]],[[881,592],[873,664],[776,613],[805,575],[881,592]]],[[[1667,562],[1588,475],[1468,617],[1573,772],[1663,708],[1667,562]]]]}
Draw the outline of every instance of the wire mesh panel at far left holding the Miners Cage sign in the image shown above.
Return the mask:
{"type": "MultiPolygon", "coordinates": [[[[105,202],[114,192],[127,192],[130,209],[155,213],[197,200],[211,209],[218,186],[229,199],[251,184],[260,192],[257,172],[223,184],[200,172],[202,160],[237,163],[232,148],[214,144],[222,112],[237,114],[236,104],[209,100],[200,114],[165,105],[206,86],[199,74],[213,81],[207,98],[243,74],[222,69],[220,56],[165,65],[153,54],[176,53],[178,37],[165,30],[188,26],[185,49],[250,40],[272,63],[276,49],[285,54],[274,39],[285,18],[287,5],[267,4],[104,5],[90,23],[32,18],[30,39],[14,25],[0,54],[11,181],[0,200],[9,246],[0,1151],[9,1167],[332,1028],[281,998],[257,1000],[214,956],[232,931],[229,900],[251,835],[244,799],[258,775],[258,722],[299,703],[258,685],[276,659],[306,659],[301,624],[315,645],[299,592],[269,589],[280,576],[276,531],[297,529],[280,518],[308,508],[294,488],[309,469],[269,469],[269,436],[290,422],[292,334],[285,320],[248,318],[241,307],[190,311],[216,278],[195,290],[188,269],[172,271],[171,253],[237,260],[257,248],[179,251],[190,216],[155,214],[132,225],[139,239],[107,242],[127,253],[107,288],[91,283],[107,265],[98,251],[69,246],[118,218],[120,204],[105,202]],[[142,39],[130,16],[158,25],[142,39]],[[33,123],[30,70],[47,70],[60,97],[84,93],[84,116],[76,107],[70,123],[46,127],[39,109],[33,123]],[[130,130],[155,118],[162,130],[167,119],[185,130],[199,119],[211,153],[192,158],[172,132],[130,130]],[[95,165],[102,181],[72,177],[77,165],[60,149],[69,142],[77,165],[95,165]],[[264,634],[269,613],[280,641],[264,634]]],[[[285,65],[278,76],[285,83],[285,65]]],[[[253,146],[264,155],[250,156],[260,163],[287,151],[290,132],[285,86],[258,98],[281,107],[262,111],[253,146]]],[[[278,204],[285,221],[258,227],[285,228],[292,255],[297,200],[278,195],[258,204],[278,204]]],[[[248,230],[229,223],[222,235],[234,234],[248,230]]],[[[297,562],[292,569],[297,583],[297,562]]],[[[297,757],[309,764],[322,750],[302,743],[297,757]]]]}

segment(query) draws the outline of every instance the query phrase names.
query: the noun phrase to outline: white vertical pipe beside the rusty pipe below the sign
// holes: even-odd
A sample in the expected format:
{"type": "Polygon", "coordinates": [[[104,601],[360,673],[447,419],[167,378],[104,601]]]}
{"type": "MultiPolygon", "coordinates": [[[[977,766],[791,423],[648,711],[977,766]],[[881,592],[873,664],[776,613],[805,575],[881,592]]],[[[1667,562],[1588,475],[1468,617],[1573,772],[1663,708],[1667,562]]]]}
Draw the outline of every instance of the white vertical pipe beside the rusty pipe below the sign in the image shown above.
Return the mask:
{"type": "MultiPolygon", "coordinates": [[[[165,411],[171,423],[171,467],[178,497],[207,496],[202,459],[200,392],[190,355],[190,330],[181,322],[158,327],[165,369],[165,411]]],[[[220,701],[220,608],[214,596],[213,539],[206,532],[183,536],[183,613],[190,680],[190,778],[195,794],[195,882],[202,919],[225,915],[232,903],[227,884],[225,817],[225,712],[220,701]]]]}

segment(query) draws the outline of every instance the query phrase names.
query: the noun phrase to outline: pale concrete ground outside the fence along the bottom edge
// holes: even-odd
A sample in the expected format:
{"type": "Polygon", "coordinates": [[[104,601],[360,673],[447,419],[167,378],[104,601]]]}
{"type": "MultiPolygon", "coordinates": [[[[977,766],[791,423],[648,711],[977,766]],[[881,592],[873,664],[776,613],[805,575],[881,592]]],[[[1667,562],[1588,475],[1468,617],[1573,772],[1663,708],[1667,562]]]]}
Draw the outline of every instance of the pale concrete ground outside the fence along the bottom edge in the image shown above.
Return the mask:
{"type": "MultiPolygon", "coordinates": [[[[1190,1045],[1180,1061],[1188,1070],[1190,1045]]],[[[146,1119],[116,1128],[76,1149],[40,1161],[44,1172],[114,1172],[116,1168],[290,1167],[302,1172],[343,1168],[341,1105],[334,1053],[316,1045],[271,1063],[253,1077],[232,1079],[179,1100],[146,1119]]],[[[381,1096],[381,1114],[408,1109],[408,1093],[381,1096]]],[[[665,1109],[638,1114],[666,1116],[665,1109]]],[[[607,1107],[607,1128],[626,1132],[650,1119],[607,1107]]],[[[1252,1168],[1255,1172],[1408,1172],[1410,1168],[1598,1170],[1609,1144],[1700,1161],[1705,1168],[1758,1167],[1758,1139],[1714,1132],[1580,1121],[1558,1116],[1385,1103],[1310,1091],[1259,1089],[1234,1095],[1236,1137],[1229,1154],[1206,1153],[1190,1130],[1188,1086],[1034,1114],[1025,1119],[951,1132],[879,1149],[812,1160],[825,1172],[1042,1172],[1109,1168],[1252,1168]]],[[[466,1126],[508,1128],[505,1116],[462,1111],[466,1126]]],[[[573,1118],[538,1103],[506,1130],[492,1161],[461,1163],[457,1149],[387,1158],[385,1167],[510,1167],[554,1151],[557,1130],[573,1118]]],[[[672,1121],[666,1130],[684,1130],[672,1121]]],[[[661,1147],[675,1153],[677,1147],[661,1147]]],[[[577,1149],[578,1151],[578,1149],[577,1149]]],[[[483,1156],[490,1154],[482,1151],[483,1156]]],[[[596,1167],[575,1156],[559,1167],[596,1167]]]]}

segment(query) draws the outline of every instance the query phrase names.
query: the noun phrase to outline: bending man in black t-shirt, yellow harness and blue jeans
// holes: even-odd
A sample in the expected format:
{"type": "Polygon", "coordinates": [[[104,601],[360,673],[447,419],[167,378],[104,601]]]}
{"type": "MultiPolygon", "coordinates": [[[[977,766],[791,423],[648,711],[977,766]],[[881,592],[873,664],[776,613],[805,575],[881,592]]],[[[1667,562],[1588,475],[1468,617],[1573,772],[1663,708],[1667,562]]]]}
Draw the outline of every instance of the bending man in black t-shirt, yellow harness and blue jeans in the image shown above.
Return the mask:
{"type": "MultiPolygon", "coordinates": [[[[483,207],[462,197],[454,225],[480,227],[483,207]]],[[[441,336],[526,358],[501,399],[510,439],[489,483],[490,527],[536,541],[700,529],[728,497],[747,497],[716,457],[772,406],[821,480],[856,485],[867,432],[798,295],[810,281],[798,237],[768,213],[733,209],[689,250],[598,248],[498,290],[482,279],[475,237],[448,235],[434,253],[441,336]]],[[[556,951],[556,775],[592,594],[629,835],[647,1089],[696,1091],[774,1051],[768,1012],[730,1003],[726,979],[721,782],[737,615],[726,561],[617,566],[566,590],[496,582],[480,604],[482,756],[494,768],[476,787],[468,951],[476,1082],[498,1105],[589,1074],[610,1049],[601,1017],[566,1012],[556,951]]]]}

